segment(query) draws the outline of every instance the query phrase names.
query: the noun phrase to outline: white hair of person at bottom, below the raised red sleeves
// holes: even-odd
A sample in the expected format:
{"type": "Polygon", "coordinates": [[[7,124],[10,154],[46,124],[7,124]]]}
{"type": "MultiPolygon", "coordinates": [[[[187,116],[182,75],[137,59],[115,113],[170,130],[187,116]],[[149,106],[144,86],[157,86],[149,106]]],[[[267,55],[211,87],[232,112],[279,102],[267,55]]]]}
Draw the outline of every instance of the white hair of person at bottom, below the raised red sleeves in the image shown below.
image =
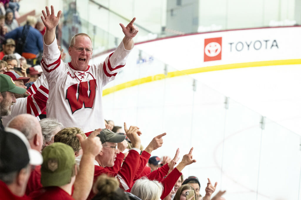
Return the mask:
{"type": "Polygon", "coordinates": [[[136,180],[131,193],[143,200],[160,200],[163,185],[157,180],[148,180],[146,177],[136,180]]]}

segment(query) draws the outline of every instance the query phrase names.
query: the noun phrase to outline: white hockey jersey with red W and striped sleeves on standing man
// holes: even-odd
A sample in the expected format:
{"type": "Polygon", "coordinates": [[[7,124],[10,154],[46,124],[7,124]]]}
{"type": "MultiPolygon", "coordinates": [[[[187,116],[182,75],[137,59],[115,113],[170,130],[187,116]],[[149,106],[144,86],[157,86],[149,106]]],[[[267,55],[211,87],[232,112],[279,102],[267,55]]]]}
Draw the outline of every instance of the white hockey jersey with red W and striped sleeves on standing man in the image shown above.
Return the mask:
{"type": "Polygon", "coordinates": [[[78,71],[70,62],[61,60],[56,39],[50,45],[44,43],[41,66],[49,84],[47,117],[57,118],[65,127],[77,127],[83,132],[104,128],[102,88],[115,79],[130,51],[121,42],[104,62],[78,71]]]}

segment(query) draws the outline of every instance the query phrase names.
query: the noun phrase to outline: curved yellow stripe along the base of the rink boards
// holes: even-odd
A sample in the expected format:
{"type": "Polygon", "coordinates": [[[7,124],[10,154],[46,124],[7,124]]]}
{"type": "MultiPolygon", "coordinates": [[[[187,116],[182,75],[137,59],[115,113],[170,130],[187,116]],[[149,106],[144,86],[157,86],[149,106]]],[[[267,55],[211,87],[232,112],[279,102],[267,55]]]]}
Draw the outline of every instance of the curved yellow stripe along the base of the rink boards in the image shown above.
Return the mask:
{"type": "Polygon", "coordinates": [[[262,66],[273,66],[273,65],[296,65],[301,64],[301,59],[290,59],[290,60],[271,60],[271,61],[259,61],[259,62],[244,62],[244,63],[234,63],[227,65],[215,65],[209,67],[199,67],[193,69],[185,69],[182,71],[172,71],[168,72],[167,76],[164,74],[156,74],[154,76],[148,76],[144,78],[139,78],[136,80],[131,80],[125,83],[121,83],[119,85],[104,89],[102,95],[108,95],[110,93],[116,92],[121,89],[125,89],[128,87],[140,85],[142,83],[148,83],[156,80],[162,80],[164,78],[171,78],[176,76],[183,76],[188,74],[197,74],[208,71],[218,71],[225,69],[237,69],[237,68],[246,68],[246,67],[262,67],[262,66]]]}

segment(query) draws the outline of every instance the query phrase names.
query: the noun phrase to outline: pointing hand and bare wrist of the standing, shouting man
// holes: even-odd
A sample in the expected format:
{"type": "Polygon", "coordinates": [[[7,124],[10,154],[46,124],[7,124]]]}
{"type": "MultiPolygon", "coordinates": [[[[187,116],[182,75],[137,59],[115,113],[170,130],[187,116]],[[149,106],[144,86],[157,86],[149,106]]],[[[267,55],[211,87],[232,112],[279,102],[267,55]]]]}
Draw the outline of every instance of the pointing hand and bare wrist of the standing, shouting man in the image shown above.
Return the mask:
{"type": "Polygon", "coordinates": [[[133,38],[137,35],[139,31],[138,27],[134,25],[135,20],[136,17],[134,17],[126,27],[122,23],[119,24],[125,35],[123,38],[123,45],[126,50],[131,50],[133,48],[133,38]]]}

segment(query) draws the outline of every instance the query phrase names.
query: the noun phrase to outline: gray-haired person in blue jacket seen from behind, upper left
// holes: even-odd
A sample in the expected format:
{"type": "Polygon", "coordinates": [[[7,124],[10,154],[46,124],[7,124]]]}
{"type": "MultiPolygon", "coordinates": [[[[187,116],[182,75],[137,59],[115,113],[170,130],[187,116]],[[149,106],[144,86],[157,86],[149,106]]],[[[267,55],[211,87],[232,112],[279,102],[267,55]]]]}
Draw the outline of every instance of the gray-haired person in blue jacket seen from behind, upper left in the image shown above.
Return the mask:
{"type": "Polygon", "coordinates": [[[5,38],[12,38],[17,41],[16,51],[26,59],[35,59],[37,54],[43,51],[42,34],[35,29],[36,18],[28,16],[26,25],[5,35],[5,38]]]}

